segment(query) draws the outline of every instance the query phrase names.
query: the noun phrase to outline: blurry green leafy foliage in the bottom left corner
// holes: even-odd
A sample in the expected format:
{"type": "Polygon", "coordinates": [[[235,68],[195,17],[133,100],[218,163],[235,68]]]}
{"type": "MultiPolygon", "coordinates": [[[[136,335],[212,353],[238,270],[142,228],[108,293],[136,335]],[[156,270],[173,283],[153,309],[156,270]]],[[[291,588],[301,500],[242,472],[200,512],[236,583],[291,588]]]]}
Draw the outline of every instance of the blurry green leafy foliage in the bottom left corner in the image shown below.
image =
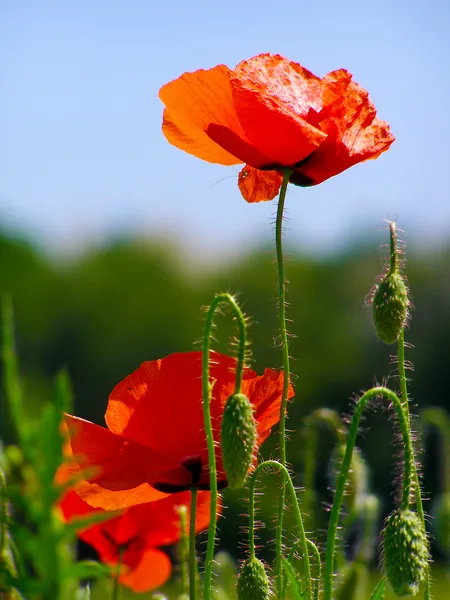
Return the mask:
{"type": "MultiPolygon", "coordinates": [[[[71,406],[67,375],[55,380],[51,400],[38,417],[27,410],[14,349],[11,302],[2,307],[2,364],[5,396],[18,445],[6,447],[1,468],[0,591],[18,590],[27,600],[73,600],[79,580],[105,573],[97,563],[76,563],[75,530],[59,514],[63,493],[55,483],[63,462],[61,423],[71,406]]],[[[86,597],[85,592],[85,596],[86,597]]],[[[13,597],[13,596],[11,596],[13,597]]],[[[88,597],[88,596],[87,596],[88,597]]]]}

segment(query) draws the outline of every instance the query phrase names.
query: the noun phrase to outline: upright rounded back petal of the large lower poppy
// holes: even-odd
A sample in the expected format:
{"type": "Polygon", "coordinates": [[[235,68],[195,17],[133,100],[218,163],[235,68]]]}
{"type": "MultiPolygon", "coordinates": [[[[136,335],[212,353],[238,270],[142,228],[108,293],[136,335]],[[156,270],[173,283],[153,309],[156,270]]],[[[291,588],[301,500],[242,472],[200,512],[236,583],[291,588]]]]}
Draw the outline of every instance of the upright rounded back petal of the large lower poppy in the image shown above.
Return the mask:
{"type": "MultiPolygon", "coordinates": [[[[221,381],[224,376],[233,381],[234,360],[220,362],[222,367],[226,363],[221,381]]],[[[105,415],[109,429],[150,444],[178,466],[200,456],[205,447],[201,365],[201,352],[179,352],[142,363],[112,391],[105,415]]]]}

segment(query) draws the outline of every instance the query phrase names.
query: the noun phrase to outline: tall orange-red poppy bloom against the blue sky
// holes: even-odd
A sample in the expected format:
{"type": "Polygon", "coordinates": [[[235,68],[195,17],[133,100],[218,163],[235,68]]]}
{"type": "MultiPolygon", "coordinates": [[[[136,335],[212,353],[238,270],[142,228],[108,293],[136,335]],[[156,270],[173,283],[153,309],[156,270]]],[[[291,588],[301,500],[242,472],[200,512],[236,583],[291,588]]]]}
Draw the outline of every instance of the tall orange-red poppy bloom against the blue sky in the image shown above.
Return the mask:
{"type": "Polygon", "coordinates": [[[171,144],[212,163],[246,163],[239,188],[248,202],[274,198],[283,167],[292,183],[316,185],[395,139],[348,71],[320,79],[279,55],[184,73],[159,95],[171,144]]]}

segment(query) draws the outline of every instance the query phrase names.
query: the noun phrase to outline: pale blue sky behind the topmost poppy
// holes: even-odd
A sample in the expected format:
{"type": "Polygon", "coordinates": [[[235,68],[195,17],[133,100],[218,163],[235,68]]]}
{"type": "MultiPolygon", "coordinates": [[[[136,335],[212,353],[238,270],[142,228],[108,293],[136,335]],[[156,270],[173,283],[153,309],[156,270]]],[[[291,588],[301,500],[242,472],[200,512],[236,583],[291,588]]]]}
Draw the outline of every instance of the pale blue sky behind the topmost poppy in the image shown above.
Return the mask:
{"type": "Polygon", "coordinates": [[[161,134],[158,90],[184,71],[280,53],[317,75],[346,68],[397,140],[309,189],[287,239],[328,252],[398,218],[414,243],[450,233],[450,3],[445,0],[3,0],[0,218],[60,251],[136,231],[202,257],[273,236],[238,169],[161,134]]]}

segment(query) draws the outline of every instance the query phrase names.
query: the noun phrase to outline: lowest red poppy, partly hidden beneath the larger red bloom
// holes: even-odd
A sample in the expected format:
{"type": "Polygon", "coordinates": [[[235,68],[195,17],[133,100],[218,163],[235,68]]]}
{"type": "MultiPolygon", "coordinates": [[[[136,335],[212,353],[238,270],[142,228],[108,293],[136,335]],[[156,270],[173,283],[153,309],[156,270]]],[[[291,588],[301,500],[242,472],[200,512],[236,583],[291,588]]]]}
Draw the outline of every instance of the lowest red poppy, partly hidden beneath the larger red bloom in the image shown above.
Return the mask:
{"type": "MultiPolygon", "coordinates": [[[[209,525],[209,501],[209,492],[199,492],[197,532],[209,525]]],[[[169,557],[158,547],[180,539],[178,507],[187,506],[189,515],[189,503],[189,492],[173,494],[157,502],[132,506],[122,515],[80,530],[78,535],[93,546],[100,560],[108,565],[117,565],[122,554],[123,571],[119,577],[122,585],[135,592],[153,590],[163,585],[172,571],[169,557]]],[[[74,491],[66,494],[60,508],[67,521],[99,512],[81,500],[74,491]]]]}

